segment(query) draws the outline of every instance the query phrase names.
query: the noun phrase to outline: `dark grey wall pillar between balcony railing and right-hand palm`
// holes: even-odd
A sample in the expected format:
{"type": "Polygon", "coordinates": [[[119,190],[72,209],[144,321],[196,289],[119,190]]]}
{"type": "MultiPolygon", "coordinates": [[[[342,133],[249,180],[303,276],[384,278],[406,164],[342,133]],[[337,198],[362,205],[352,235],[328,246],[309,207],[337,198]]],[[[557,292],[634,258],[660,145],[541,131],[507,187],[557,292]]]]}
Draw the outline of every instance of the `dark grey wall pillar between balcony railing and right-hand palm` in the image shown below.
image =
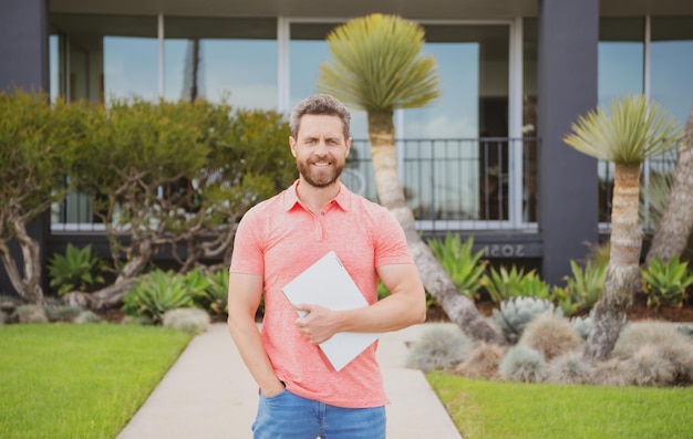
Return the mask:
{"type": "Polygon", "coordinates": [[[562,137],[597,105],[599,0],[539,0],[538,41],[541,274],[559,284],[598,241],[597,160],[562,137]]]}

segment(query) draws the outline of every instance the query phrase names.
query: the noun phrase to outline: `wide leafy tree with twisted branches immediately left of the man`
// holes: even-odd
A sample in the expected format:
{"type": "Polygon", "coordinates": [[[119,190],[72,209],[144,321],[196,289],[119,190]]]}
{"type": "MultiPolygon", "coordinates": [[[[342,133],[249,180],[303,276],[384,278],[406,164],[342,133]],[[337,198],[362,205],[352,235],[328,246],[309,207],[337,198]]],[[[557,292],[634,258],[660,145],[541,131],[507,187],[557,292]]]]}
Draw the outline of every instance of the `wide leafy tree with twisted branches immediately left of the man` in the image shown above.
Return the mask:
{"type": "Polygon", "coordinates": [[[115,282],[66,301],[91,307],[120,303],[133,281],[167,249],[184,273],[208,261],[228,266],[235,222],[296,177],[275,113],[232,112],[204,100],[116,101],[89,133],[80,189],[90,194],[114,261],[115,282]]]}

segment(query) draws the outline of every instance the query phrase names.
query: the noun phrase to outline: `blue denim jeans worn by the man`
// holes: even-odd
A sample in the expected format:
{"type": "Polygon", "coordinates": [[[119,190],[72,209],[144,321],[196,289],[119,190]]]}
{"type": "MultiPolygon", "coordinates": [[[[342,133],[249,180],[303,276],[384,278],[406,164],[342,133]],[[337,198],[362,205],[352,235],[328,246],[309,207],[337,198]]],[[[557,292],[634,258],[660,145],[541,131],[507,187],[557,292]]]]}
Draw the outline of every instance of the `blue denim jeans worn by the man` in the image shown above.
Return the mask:
{"type": "Polygon", "coordinates": [[[255,439],[385,439],[385,407],[343,408],[293,395],[260,393],[255,439]]]}

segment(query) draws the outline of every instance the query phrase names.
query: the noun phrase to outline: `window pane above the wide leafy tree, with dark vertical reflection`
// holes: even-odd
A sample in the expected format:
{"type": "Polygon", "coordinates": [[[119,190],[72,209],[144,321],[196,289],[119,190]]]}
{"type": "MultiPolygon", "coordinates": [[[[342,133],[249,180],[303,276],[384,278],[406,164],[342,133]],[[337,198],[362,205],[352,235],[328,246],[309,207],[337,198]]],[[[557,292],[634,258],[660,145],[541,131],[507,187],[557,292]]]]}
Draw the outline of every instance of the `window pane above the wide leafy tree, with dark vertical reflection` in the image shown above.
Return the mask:
{"type": "Polygon", "coordinates": [[[275,19],[166,18],[164,97],[277,108],[275,19]]]}

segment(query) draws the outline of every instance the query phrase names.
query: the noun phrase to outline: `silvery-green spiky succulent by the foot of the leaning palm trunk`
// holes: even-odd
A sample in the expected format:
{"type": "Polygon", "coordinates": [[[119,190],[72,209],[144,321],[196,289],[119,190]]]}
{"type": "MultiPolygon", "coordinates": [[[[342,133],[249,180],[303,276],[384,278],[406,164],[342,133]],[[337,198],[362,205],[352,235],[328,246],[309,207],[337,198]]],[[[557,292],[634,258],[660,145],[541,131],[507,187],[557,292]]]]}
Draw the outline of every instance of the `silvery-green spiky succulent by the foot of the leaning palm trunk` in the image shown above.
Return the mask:
{"type": "Polygon", "coordinates": [[[500,330],[506,339],[517,343],[525,325],[541,313],[563,315],[561,309],[557,309],[547,299],[518,296],[500,303],[500,309],[493,311],[493,322],[500,330]]]}

